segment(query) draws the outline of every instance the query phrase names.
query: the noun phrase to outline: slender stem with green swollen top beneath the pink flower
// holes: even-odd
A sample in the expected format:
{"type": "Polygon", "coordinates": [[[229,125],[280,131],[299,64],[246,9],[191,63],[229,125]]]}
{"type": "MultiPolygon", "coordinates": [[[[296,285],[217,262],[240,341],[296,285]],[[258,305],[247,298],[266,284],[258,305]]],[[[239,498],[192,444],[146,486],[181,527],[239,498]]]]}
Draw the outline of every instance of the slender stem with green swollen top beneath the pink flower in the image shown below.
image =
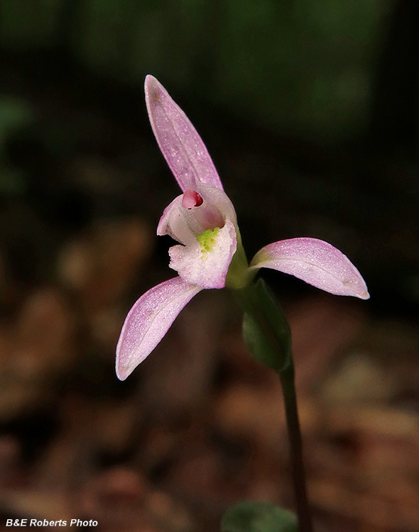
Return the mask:
{"type": "Polygon", "coordinates": [[[266,284],[259,279],[235,291],[236,299],[248,316],[257,323],[259,331],[266,340],[268,357],[261,353],[252,353],[259,362],[273,367],[281,379],[285,403],[285,416],[290,443],[290,463],[293,474],[295,504],[297,506],[298,532],[312,532],[312,520],[305,486],[305,468],[303,462],[303,442],[298,419],[297,396],[293,355],[291,352],[291,333],[283,311],[266,284]]]}

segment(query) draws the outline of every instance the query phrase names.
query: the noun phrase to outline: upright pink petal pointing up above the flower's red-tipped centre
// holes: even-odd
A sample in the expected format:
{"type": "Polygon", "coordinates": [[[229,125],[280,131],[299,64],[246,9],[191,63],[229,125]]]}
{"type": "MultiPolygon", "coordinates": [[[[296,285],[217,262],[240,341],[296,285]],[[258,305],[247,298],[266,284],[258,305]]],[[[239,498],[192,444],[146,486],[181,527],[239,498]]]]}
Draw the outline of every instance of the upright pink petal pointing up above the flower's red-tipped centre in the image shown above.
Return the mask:
{"type": "Polygon", "coordinates": [[[180,188],[195,190],[196,184],[204,183],[223,190],[200,135],[163,85],[150,74],[146,76],[145,92],[153,133],[180,188]]]}

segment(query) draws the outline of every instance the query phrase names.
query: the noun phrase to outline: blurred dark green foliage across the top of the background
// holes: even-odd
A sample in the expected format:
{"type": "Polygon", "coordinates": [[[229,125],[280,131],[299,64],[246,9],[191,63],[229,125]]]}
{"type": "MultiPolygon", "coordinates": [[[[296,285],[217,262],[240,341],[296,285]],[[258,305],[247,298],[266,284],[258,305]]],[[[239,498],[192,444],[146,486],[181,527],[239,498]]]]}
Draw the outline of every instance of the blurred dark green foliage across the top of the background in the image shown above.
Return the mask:
{"type": "Polygon", "coordinates": [[[236,116],[315,138],[360,133],[387,3],[1,0],[0,44],[65,48],[129,84],[152,73],[236,116]]]}

